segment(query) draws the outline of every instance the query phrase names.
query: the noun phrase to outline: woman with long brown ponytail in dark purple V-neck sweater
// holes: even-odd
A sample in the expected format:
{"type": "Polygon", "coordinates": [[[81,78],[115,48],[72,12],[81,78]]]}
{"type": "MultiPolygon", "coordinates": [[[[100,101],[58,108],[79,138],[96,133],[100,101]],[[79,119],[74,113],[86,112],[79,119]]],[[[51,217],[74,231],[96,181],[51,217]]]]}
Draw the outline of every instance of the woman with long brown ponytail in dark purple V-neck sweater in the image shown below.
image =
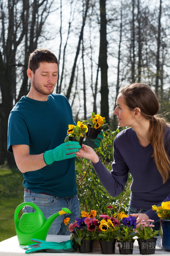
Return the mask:
{"type": "Polygon", "coordinates": [[[161,205],[170,196],[170,125],[156,115],[159,100],[146,84],[123,87],[116,105],[113,113],[119,126],[129,128],[115,137],[111,172],[88,146],[83,145],[76,155],[92,161],[103,186],[113,197],[123,191],[130,171],[133,182],[128,214],[137,218],[137,227],[142,220],[153,219],[155,230],[159,230],[159,217],[152,205],[161,205]]]}

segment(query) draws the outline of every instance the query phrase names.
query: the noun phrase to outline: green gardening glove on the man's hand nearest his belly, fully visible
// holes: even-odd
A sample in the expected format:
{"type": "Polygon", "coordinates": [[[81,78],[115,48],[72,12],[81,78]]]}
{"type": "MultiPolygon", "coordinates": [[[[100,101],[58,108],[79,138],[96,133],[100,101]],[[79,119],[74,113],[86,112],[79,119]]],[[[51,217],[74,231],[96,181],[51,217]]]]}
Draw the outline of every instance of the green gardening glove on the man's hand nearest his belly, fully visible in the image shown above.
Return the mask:
{"type": "Polygon", "coordinates": [[[75,152],[78,152],[79,148],[81,148],[79,142],[68,141],[54,149],[45,151],[43,155],[44,162],[49,165],[52,164],[54,161],[61,161],[63,159],[75,157],[75,152]]]}

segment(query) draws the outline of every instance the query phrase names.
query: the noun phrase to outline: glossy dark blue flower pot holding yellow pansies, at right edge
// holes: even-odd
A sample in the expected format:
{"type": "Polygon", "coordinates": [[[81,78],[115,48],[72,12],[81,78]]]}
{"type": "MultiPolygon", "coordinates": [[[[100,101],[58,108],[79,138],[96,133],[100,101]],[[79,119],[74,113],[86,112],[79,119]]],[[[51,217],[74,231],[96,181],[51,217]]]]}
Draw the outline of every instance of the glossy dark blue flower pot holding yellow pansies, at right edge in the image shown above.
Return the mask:
{"type": "Polygon", "coordinates": [[[160,219],[162,237],[161,237],[161,245],[162,247],[170,251],[170,220],[160,219]]]}

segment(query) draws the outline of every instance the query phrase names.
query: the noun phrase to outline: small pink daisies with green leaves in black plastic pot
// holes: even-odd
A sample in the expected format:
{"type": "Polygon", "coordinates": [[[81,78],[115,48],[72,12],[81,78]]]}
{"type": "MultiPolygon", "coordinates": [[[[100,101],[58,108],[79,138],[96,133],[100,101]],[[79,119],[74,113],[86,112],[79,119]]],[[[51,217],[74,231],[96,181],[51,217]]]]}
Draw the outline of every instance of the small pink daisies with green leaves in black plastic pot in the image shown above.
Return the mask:
{"type": "Polygon", "coordinates": [[[142,221],[139,228],[136,228],[136,236],[138,237],[138,245],[140,254],[154,254],[156,247],[156,235],[159,233],[159,230],[153,231],[154,225],[152,222],[154,220],[147,220],[149,222],[146,223],[145,220],[142,221]]]}

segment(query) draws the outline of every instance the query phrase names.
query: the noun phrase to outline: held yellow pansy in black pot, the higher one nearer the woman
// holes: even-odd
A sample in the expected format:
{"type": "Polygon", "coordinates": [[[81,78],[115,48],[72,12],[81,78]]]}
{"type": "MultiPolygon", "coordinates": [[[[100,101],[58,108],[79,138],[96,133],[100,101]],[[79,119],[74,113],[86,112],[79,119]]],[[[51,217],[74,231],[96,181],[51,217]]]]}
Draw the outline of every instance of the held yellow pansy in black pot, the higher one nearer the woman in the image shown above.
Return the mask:
{"type": "Polygon", "coordinates": [[[95,115],[93,112],[89,120],[81,121],[88,126],[88,131],[86,132],[86,137],[88,139],[96,139],[97,135],[101,132],[101,134],[105,135],[104,128],[106,128],[108,124],[105,124],[105,118],[100,116],[98,113],[95,115]]]}

